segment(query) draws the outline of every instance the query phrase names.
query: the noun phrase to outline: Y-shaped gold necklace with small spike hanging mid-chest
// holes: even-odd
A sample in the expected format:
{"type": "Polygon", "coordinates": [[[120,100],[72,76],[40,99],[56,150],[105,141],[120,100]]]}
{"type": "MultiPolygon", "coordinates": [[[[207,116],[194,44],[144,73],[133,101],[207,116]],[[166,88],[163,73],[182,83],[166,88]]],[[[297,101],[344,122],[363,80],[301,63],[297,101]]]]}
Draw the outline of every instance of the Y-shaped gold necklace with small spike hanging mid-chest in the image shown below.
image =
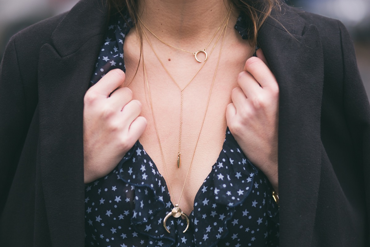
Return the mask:
{"type": "MultiPolygon", "coordinates": [[[[231,11],[229,11],[228,13],[229,13],[229,16],[230,16],[231,11]]],[[[229,20],[229,19],[228,19],[228,20],[229,20]]],[[[147,36],[147,34],[145,33],[145,31],[142,29],[142,26],[141,26],[141,24],[140,24],[140,23],[139,23],[139,25],[140,25],[140,28],[141,28],[141,30],[142,30],[142,32],[143,32],[143,34],[144,34],[145,38],[147,39],[147,41],[148,41],[148,43],[149,43],[149,45],[150,45],[151,49],[153,50],[153,52],[154,52],[155,56],[157,57],[157,59],[158,59],[159,63],[161,63],[162,67],[165,69],[165,71],[167,72],[167,74],[169,75],[169,77],[171,77],[172,81],[174,81],[174,83],[176,84],[176,86],[177,86],[177,87],[180,89],[180,91],[181,91],[179,152],[178,152],[178,156],[177,156],[177,167],[178,167],[178,168],[180,168],[180,166],[181,166],[182,105],[183,105],[183,99],[184,99],[184,97],[183,97],[183,96],[184,96],[184,90],[185,90],[185,88],[186,88],[186,87],[187,87],[187,86],[192,82],[192,80],[193,80],[193,79],[195,78],[195,76],[199,73],[199,71],[203,68],[203,66],[205,65],[205,63],[206,63],[206,61],[207,61],[207,60],[203,61],[202,66],[198,69],[198,71],[196,71],[195,75],[190,79],[190,81],[185,85],[185,87],[181,88],[181,87],[179,86],[179,84],[176,82],[176,80],[174,79],[174,77],[171,75],[171,73],[169,73],[169,71],[167,70],[167,68],[164,66],[164,63],[163,63],[163,62],[162,62],[162,60],[159,58],[159,56],[158,56],[157,52],[154,50],[154,47],[152,46],[151,42],[149,41],[148,36],[147,36]]],[[[215,47],[216,47],[216,45],[217,45],[217,43],[218,43],[218,41],[219,41],[220,37],[222,36],[223,31],[226,29],[227,25],[228,25],[228,22],[227,22],[227,23],[225,24],[225,26],[222,28],[220,35],[218,36],[218,38],[217,38],[217,40],[216,40],[215,44],[213,45],[213,47],[212,47],[212,49],[211,49],[211,52],[209,53],[209,56],[211,56],[212,51],[215,49],[215,47]]]]}

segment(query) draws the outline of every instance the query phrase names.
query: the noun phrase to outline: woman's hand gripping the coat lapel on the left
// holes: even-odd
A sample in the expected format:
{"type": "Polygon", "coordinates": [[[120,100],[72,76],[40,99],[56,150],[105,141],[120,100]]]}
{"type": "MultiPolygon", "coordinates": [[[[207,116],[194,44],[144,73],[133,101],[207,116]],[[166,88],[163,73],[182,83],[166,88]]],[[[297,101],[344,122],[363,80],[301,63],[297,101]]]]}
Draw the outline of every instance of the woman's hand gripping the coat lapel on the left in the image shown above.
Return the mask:
{"type": "Polygon", "coordinates": [[[109,71],[84,97],[84,183],[110,173],[147,127],[141,103],[122,87],[125,73],[109,71]]]}

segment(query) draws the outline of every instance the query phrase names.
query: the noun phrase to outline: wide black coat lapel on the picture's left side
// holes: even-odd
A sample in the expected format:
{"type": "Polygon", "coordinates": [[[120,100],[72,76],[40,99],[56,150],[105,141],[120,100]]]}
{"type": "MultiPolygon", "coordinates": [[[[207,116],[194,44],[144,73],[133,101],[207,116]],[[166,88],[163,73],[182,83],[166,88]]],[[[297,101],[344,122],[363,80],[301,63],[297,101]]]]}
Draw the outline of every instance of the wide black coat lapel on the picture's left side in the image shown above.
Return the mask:
{"type": "Polygon", "coordinates": [[[38,169],[53,246],[84,246],[83,99],[107,21],[99,2],[80,1],[40,50],[38,169]]]}

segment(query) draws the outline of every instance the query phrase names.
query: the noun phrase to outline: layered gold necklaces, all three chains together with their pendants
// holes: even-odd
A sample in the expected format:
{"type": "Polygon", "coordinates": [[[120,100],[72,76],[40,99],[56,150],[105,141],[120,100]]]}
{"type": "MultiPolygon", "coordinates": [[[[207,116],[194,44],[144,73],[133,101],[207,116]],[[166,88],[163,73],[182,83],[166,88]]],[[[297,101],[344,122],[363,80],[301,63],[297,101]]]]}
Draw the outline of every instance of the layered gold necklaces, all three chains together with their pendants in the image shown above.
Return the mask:
{"type": "MultiPolygon", "coordinates": [[[[199,52],[203,52],[206,54],[206,59],[203,61],[202,63],[202,66],[199,68],[198,71],[196,71],[195,75],[191,78],[191,80],[185,85],[185,87],[181,88],[179,86],[179,84],[176,82],[176,80],[174,79],[174,77],[172,77],[172,75],[169,73],[169,71],[166,69],[166,67],[164,66],[164,63],[162,62],[162,60],[159,58],[157,52],[154,50],[151,42],[149,41],[148,39],[148,36],[147,34],[145,33],[144,29],[142,29],[142,25],[144,25],[144,23],[138,18],[139,20],[139,25],[141,27],[141,30],[145,36],[145,38],[147,39],[151,49],[153,50],[155,56],[157,57],[158,61],[161,63],[162,67],[165,69],[166,73],[169,75],[169,77],[171,77],[172,81],[174,81],[174,83],[176,84],[176,86],[181,90],[181,110],[180,110],[180,136],[179,136],[179,152],[178,152],[178,161],[177,161],[177,166],[180,167],[180,164],[181,164],[181,159],[180,159],[180,155],[181,155],[181,129],[182,129],[182,105],[183,105],[183,91],[184,89],[191,83],[191,81],[195,78],[195,76],[199,73],[199,71],[203,68],[204,64],[206,63],[207,61],[207,58],[208,58],[208,54],[206,53],[206,49],[208,48],[209,44],[212,42],[212,40],[214,39],[214,37],[217,35],[218,31],[221,29],[222,27],[222,24],[225,22],[226,20],[226,23],[225,25],[223,26],[222,30],[221,30],[221,33],[219,34],[215,44],[213,45],[210,53],[209,53],[209,56],[212,54],[212,51],[215,49],[216,47],[216,44],[218,43],[220,37],[222,36],[222,33],[223,33],[223,38],[222,38],[222,44],[221,44],[221,48],[220,48],[220,51],[219,51],[219,56],[218,56],[218,60],[217,60],[217,64],[216,64],[216,68],[215,68],[215,73],[213,74],[213,79],[212,79],[212,85],[211,85],[211,89],[209,91],[209,95],[208,95],[208,99],[207,99],[207,104],[206,104],[206,108],[205,108],[205,112],[204,112],[204,115],[203,115],[203,119],[202,119],[202,124],[201,124],[201,128],[199,130],[199,133],[198,133],[198,137],[196,139],[196,142],[195,142],[195,147],[194,147],[194,150],[193,150],[193,153],[192,153],[192,157],[191,157],[191,160],[190,160],[190,164],[189,164],[189,168],[188,168],[188,171],[186,173],[186,177],[185,177],[185,181],[184,181],[184,185],[182,186],[182,190],[181,190],[181,194],[180,194],[180,197],[179,197],[179,201],[178,203],[175,204],[175,207],[172,208],[171,212],[169,212],[164,220],[163,220],[163,227],[165,228],[165,230],[170,233],[170,231],[168,230],[168,228],[166,227],[166,221],[169,217],[175,217],[175,218],[178,218],[180,216],[184,217],[185,220],[186,220],[186,228],[185,230],[183,231],[183,233],[186,232],[186,230],[188,230],[189,228],[189,218],[188,216],[182,212],[181,208],[179,207],[179,204],[180,204],[180,201],[181,201],[181,198],[182,198],[182,193],[184,192],[184,188],[185,188],[185,184],[186,184],[186,180],[188,178],[188,175],[189,175],[189,171],[190,171],[190,167],[191,167],[191,164],[192,164],[192,161],[193,161],[193,158],[194,158],[194,154],[195,154],[195,150],[196,150],[196,147],[198,145],[198,141],[199,141],[199,137],[201,135],[201,132],[202,132],[202,128],[203,128],[203,124],[204,124],[204,121],[205,121],[205,117],[206,117],[206,114],[207,114],[207,110],[208,110],[208,106],[209,106],[209,101],[211,99],[211,94],[212,94],[212,89],[213,89],[213,85],[215,83],[215,79],[216,79],[216,73],[217,73],[217,69],[218,69],[218,65],[219,65],[219,61],[220,61],[220,58],[221,58],[221,53],[222,53],[222,47],[223,47],[223,43],[225,41],[225,36],[226,36],[226,30],[227,30],[227,26],[228,26],[228,23],[229,23],[229,19],[230,19],[230,15],[231,15],[231,5],[229,7],[229,10],[228,12],[226,13],[226,16],[225,18],[223,19],[221,25],[218,27],[216,33],[213,35],[211,41],[209,41],[209,43],[207,44],[206,48],[203,49],[203,50],[200,50],[200,51],[197,51],[196,53],[192,53],[195,55],[195,59],[197,61],[199,61],[196,57],[196,54],[198,54],[199,52]]],[[[136,27],[137,28],[137,27],[136,27]]],[[[161,39],[158,38],[158,36],[156,36],[152,31],[150,31],[148,29],[148,27],[145,26],[145,28],[150,32],[152,33],[155,37],[157,37],[158,40],[160,40],[162,43],[170,46],[170,47],[174,47],[178,50],[182,50],[182,51],[186,51],[184,49],[180,49],[178,47],[175,47],[175,46],[172,46],[168,43],[165,43],[164,41],[162,41],[161,39]]],[[[138,33],[138,31],[137,31],[138,33]]],[[[189,52],[189,51],[186,51],[186,52],[189,52]]],[[[190,52],[191,53],[191,52],[190,52]]],[[[159,149],[161,151],[161,156],[162,156],[162,161],[163,161],[163,164],[164,164],[164,167],[165,167],[165,171],[166,171],[166,176],[167,176],[167,181],[168,181],[168,185],[169,185],[169,190],[171,191],[171,195],[172,195],[172,198],[175,200],[175,197],[174,197],[174,193],[172,191],[172,187],[171,187],[171,182],[170,182],[170,179],[169,179],[169,175],[168,175],[168,171],[167,171],[167,166],[166,166],[166,163],[165,163],[165,158],[164,158],[164,154],[163,154],[163,150],[162,150],[162,146],[161,146],[161,140],[159,138],[159,133],[158,133],[158,127],[157,127],[157,123],[155,121],[155,114],[154,114],[154,109],[153,109],[153,104],[152,104],[152,98],[151,98],[151,92],[150,92],[150,87],[149,87],[149,82],[148,82],[148,76],[147,76],[147,71],[146,71],[146,67],[145,67],[145,61],[144,61],[144,52],[142,52],[142,61],[143,61],[143,70],[144,70],[144,78],[145,78],[145,82],[146,82],[146,86],[147,86],[147,91],[148,91],[148,98],[149,98],[149,103],[150,103],[150,107],[151,107],[151,111],[152,111],[152,116],[153,116],[153,121],[154,121],[154,127],[155,127],[155,131],[156,131],[156,134],[157,134],[157,139],[158,139],[158,144],[159,144],[159,149]]]]}

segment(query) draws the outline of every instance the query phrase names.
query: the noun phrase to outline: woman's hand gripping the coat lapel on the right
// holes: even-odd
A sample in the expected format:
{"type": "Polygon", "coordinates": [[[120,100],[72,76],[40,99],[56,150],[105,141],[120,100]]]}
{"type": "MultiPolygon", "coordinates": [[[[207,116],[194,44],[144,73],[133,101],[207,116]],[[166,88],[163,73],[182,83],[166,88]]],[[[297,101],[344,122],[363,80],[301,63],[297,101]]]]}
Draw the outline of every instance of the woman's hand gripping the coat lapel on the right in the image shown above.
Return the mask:
{"type": "Polygon", "coordinates": [[[262,50],[248,59],[238,76],[226,108],[229,130],[250,162],[269,179],[278,192],[277,130],[279,86],[262,50]]]}

